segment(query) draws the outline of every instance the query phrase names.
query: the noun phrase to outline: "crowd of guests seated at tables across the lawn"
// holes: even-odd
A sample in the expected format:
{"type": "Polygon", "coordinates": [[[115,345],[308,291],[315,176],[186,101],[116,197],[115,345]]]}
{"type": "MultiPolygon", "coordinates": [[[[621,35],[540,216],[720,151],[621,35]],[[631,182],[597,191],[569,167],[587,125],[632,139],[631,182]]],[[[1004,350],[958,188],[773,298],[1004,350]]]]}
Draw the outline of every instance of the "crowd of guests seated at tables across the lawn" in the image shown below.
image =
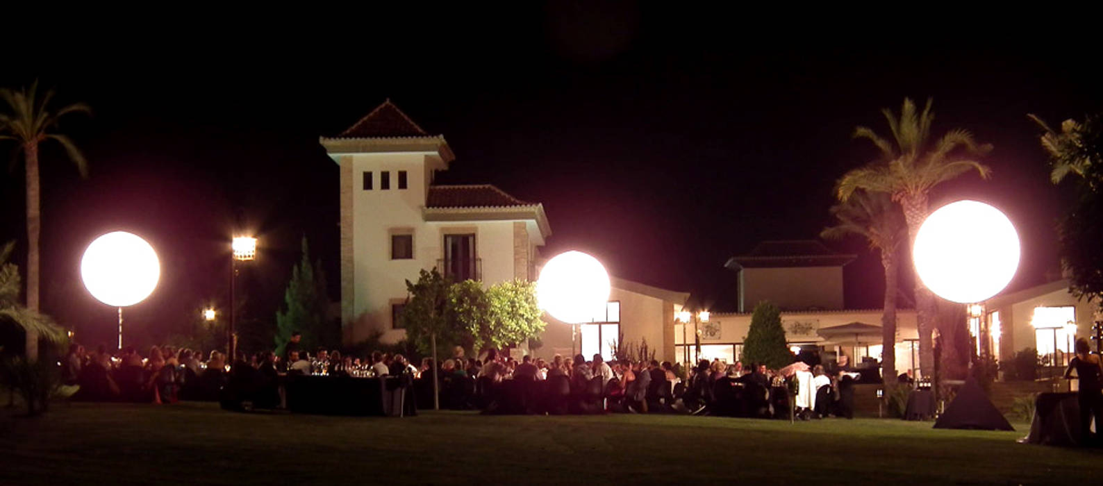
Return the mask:
{"type": "Polygon", "coordinates": [[[517,412],[520,407],[524,409],[521,412],[543,413],[552,409],[538,402],[555,401],[548,398],[555,396],[564,402],[558,408],[563,412],[769,418],[789,417],[792,408],[801,419],[853,417],[852,388],[857,378],[846,356],[827,367],[797,361],[769,369],[761,364],[743,366],[740,361],[714,359],[685,369],[682,364],[654,359],[606,361],[601,355],[590,359],[556,355],[550,360],[524,356],[518,360],[490,349],[479,357],[468,357],[457,346],[451,357],[436,366],[431,358],[415,365],[401,354],[381,352],[362,357],[326,349],[311,354],[300,346],[300,338],[298,333],[292,335],[280,355],[238,355],[231,363],[218,350],[203,354],[153,346],[142,356],[129,347],[117,354],[107,353],[103,346],[86,353],[74,344],[64,358],[63,376],[66,382],[79,385],[74,399],[94,401],[229,400],[278,409],[287,403],[282,387],[286,379],[281,377],[389,376],[404,378],[403,386],[411,389],[410,406],[427,408],[433,404],[436,377],[440,403],[449,409],[517,412]],[[517,406],[518,395],[527,404],[517,406]]]}

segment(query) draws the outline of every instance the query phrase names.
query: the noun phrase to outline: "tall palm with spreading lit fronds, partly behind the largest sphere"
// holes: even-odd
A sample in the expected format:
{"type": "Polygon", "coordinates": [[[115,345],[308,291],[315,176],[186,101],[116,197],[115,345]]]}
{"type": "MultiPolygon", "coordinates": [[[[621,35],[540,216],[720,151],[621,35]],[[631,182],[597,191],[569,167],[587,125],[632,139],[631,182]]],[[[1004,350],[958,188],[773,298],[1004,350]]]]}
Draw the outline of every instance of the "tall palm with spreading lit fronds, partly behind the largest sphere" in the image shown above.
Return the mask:
{"type": "MultiPolygon", "coordinates": [[[[843,202],[859,188],[891,195],[892,201],[903,208],[912,245],[920,225],[927,218],[928,195],[935,185],[971,171],[976,171],[985,179],[992,172],[986,165],[968,158],[987,153],[992,145],[976,143],[967,130],[950,130],[942,138],[931,140],[931,122],[934,121],[931,102],[928,99],[920,114],[915,110],[915,104],[904,98],[899,118],[891,109],[881,110],[892,132],[891,140],[878,136],[869,128],[857,127],[854,138],[874,142],[880,156],[844,174],[837,188],[838,198],[843,202]]],[[[935,303],[934,295],[923,285],[919,272],[915,272],[915,311],[920,369],[930,376],[934,368],[931,330],[935,303]]],[[[945,355],[952,355],[952,343],[947,341],[945,344],[945,355]]]]}

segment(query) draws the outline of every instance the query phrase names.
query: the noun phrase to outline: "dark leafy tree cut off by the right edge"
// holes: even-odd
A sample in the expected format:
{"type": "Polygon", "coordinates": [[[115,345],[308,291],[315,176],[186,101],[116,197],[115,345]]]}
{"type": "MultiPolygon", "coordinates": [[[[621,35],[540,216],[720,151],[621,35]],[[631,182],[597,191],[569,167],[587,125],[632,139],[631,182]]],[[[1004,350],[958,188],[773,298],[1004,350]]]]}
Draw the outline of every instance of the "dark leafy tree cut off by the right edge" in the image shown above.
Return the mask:
{"type": "Polygon", "coordinates": [[[1058,247],[1070,274],[1073,295],[1103,302],[1103,116],[1083,122],[1064,120],[1061,131],[1029,115],[1046,133],[1041,145],[1049,153],[1050,180],[1060,184],[1069,174],[1075,180],[1075,199],[1057,226],[1058,247]]]}

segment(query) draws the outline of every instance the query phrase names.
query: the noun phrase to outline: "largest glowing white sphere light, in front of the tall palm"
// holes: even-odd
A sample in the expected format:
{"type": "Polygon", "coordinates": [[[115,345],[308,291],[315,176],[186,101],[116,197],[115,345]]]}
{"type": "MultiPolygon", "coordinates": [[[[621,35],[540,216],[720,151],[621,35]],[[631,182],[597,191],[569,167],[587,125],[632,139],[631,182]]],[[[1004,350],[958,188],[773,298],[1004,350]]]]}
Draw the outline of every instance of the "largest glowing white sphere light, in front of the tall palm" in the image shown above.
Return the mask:
{"type": "Polygon", "coordinates": [[[999,209],[959,201],[927,217],[915,235],[913,258],[931,292],[953,302],[983,302],[1015,277],[1019,235],[999,209]]]}

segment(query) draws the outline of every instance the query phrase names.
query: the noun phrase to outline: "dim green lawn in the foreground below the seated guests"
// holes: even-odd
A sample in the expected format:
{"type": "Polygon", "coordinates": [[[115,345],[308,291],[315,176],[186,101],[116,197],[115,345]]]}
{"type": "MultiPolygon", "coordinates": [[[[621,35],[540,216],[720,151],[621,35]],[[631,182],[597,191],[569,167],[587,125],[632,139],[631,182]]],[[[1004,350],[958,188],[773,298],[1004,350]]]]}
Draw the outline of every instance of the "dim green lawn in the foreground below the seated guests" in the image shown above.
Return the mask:
{"type": "Polygon", "coordinates": [[[212,403],[0,412],[0,484],[1069,483],[1103,452],[930,422],[674,415],[243,414],[212,403]]]}

